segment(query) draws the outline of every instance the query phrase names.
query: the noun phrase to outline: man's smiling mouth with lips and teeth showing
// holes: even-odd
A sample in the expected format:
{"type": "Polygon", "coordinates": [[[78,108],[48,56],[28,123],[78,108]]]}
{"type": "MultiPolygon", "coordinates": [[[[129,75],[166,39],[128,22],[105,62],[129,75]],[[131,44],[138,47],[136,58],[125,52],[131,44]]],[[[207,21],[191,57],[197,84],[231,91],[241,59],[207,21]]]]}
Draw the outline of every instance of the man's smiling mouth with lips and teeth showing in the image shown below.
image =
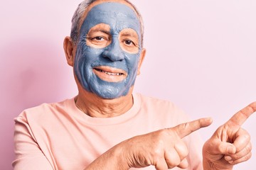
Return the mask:
{"type": "Polygon", "coordinates": [[[127,73],[124,70],[107,66],[95,67],[93,72],[103,81],[109,82],[122,81],[127,77],[127,73]]]}

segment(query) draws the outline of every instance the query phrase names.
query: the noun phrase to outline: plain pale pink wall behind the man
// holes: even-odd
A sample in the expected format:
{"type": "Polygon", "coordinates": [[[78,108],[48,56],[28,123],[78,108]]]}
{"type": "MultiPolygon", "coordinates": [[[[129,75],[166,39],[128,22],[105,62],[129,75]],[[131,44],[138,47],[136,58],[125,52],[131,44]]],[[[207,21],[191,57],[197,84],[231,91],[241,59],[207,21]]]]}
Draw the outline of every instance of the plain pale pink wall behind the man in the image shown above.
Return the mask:
{"type": "MultiPolygon", "coordinates": [[[[0,6],[1,169],[12,169],[14,117],[77,93],[63,38],[80,1],[5,1],[0,6]]],[[[236,111],[256,101],[256,1],[139,1],[146,60],[135,91],[168,99],[191,118],[212,117],[206,140],[236,111]]],[[[243,125],[255,146],[256,116],[243,125]]]]}

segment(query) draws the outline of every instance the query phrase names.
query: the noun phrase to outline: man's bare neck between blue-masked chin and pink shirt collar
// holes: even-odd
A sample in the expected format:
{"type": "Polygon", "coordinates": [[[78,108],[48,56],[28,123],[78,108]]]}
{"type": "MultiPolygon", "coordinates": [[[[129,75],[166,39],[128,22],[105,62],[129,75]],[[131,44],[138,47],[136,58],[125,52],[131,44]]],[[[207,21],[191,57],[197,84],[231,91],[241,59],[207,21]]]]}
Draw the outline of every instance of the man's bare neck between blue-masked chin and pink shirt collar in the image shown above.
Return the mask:
{"type": "Polygon", "coordinates": [[[79,91],[75,98],[76,106],[85,114],[94,118],[112,118],[126,113],[133,105],[132,88],[127,96],[114,99],[100,98],[87,92],[79,91]]]}

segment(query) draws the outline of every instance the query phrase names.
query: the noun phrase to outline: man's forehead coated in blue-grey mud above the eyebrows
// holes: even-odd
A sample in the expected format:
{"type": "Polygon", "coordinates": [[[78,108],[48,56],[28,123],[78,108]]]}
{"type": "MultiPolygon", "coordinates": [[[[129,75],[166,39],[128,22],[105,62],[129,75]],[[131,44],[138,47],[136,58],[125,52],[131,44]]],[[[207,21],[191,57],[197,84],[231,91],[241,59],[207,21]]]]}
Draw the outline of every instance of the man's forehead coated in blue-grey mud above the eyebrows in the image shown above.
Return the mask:
{"type": "Polygon", "coordinates": [[[108,1],[100,4],[92,4],[88,10],[85,11],[85,20],[81,26],[85,30],[89,30],[99,23],[106,23],[114,30],[132,28],[138,34],[140,32],[137,13],[127,4],[108,1]]]}

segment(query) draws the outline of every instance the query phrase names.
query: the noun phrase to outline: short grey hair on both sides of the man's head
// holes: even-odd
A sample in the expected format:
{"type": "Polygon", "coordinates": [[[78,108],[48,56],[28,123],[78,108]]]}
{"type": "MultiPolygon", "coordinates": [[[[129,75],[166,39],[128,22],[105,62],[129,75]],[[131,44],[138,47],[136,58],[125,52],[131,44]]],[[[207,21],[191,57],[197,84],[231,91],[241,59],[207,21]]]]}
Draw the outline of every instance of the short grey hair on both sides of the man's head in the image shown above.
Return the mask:
{"type": "MultiPolygon", "coordinates": [[[[78,36],[80,33],[80,23],[82,22],[81,21],[82,16],[85,13],[86,9],[90,6],[90,4],[92,4],[95,1],[97,0],[84,0],[78,5],[78,8],[75,10],[75,13],[72,18],[72,26],[71,26],[71,33],[70,33],[70,37],[75,43],[75,45],[77,45],[78,43],[78,36]]],[[[139,13],[139,10],[136,8],[136,6],[132,4],[132,2],[130,2],[129,0],[124,0],[124,1],[130,4],[134,8],[134,11],[137,13],[137,16],[139,18],[139,23],[140,23],[140,32],[141,32],[141,39],[142,39],[141,43],[143,47],[144,23],[143,23],[142,15],[139,13]]]]}

